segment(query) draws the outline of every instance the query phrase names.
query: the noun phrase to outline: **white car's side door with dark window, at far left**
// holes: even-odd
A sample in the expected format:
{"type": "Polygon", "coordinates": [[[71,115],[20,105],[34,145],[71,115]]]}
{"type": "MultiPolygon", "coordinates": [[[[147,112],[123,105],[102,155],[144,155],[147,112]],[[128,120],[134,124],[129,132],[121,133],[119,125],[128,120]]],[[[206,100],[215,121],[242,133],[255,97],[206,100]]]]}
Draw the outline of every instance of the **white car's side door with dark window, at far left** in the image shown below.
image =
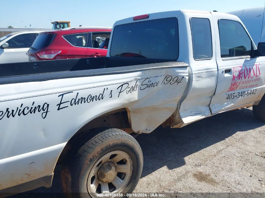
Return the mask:
{"type": "Polygon", "coordinates": [[[6,41],[9,47],[3,49],[0,55],[0,63],[16,63],[28,61],[26,52],[32,45],[34,33],[16,35],[6,41]]]}

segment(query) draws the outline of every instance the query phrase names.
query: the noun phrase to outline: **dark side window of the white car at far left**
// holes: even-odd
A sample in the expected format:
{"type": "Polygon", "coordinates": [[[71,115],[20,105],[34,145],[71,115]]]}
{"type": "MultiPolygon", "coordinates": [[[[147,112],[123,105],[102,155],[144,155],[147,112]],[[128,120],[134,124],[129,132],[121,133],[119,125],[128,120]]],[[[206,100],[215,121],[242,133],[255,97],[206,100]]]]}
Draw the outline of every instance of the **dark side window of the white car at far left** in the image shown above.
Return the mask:
{"type": "Polygon", "coordinates": [[[32,44],[31,33],[17,35],[6,43],[8,43],[9,48],[29,48],[32,44]]]}

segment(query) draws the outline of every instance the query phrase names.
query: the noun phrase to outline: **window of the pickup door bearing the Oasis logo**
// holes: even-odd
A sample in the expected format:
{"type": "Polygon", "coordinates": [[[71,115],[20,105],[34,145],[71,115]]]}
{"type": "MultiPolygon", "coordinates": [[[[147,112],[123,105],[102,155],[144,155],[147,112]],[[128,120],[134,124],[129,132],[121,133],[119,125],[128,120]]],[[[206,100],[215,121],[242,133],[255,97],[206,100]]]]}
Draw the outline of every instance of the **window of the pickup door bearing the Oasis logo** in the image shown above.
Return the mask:
{"type": "Polygon", "coordinates": [[[218,21],[221,57],[249,56],[251,39],[241,23],[227,19],[218,21]]]}

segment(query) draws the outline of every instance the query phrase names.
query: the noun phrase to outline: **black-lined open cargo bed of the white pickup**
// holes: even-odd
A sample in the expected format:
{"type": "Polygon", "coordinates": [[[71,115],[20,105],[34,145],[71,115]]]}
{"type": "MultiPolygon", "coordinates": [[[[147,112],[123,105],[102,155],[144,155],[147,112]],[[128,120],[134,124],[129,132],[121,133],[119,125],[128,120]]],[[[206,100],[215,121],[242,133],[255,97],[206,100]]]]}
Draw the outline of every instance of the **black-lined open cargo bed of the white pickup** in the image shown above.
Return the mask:
{"type": "Polygon", "coordinates": [[[74,58],[0,64],[0,84],[122,74],[148,69],[187,67],[184,62],[148,58],[74,58]]]}

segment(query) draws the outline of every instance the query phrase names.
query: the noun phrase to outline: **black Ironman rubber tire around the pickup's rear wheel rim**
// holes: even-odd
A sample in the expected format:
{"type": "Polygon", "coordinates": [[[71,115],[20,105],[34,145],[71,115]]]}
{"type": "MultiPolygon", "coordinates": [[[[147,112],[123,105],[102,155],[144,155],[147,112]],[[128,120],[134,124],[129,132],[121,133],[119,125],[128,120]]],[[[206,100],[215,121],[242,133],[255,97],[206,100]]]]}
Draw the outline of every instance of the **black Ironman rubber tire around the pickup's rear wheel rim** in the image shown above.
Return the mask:
{"type": "Polygon", "coordinates": [[[120,129],[98,129],[93,131],[93,135],[95,136],[87,139],[88,141],[79,148],[77,146],[76,149],[72,149],[66,156],[61,171],[62,188],[66,197],[90,198],[95,195],[87,190],[90,170],[101,157],[116,150],[127,153],[132,161],[129,182],[119,193],[126,195],[132,192],[140,180],[143,169],[143,154],[138,142],[120,129]]]}

